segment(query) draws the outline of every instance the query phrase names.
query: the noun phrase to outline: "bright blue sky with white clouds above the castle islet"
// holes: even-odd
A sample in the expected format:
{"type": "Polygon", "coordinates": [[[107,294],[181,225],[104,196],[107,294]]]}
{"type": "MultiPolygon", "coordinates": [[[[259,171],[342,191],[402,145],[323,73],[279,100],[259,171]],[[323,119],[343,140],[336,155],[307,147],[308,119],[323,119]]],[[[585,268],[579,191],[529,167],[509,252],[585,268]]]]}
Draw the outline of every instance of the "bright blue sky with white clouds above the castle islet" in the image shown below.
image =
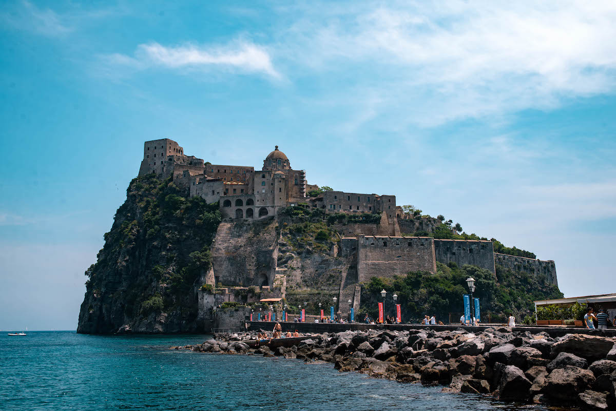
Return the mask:
{"type": "Polygon", "coordinates": [[[616,2],[76,2],[0,8],[0,330],[76,329],[84,271],[172,138],[280,146],[616,292],[616,2]]]}

